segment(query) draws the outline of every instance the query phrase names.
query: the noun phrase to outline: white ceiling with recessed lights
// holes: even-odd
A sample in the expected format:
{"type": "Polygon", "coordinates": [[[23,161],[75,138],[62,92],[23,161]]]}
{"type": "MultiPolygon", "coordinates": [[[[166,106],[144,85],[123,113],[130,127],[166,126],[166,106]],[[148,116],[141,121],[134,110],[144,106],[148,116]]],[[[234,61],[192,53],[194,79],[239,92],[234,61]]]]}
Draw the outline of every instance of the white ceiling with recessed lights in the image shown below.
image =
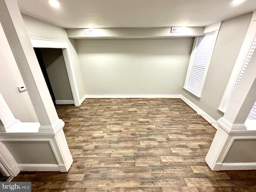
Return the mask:
{"type": "Polygon", "coordinates": [[[17,0],[20,11],[63,28],[207,26],[256,10],[256,0],[17,0]]]}

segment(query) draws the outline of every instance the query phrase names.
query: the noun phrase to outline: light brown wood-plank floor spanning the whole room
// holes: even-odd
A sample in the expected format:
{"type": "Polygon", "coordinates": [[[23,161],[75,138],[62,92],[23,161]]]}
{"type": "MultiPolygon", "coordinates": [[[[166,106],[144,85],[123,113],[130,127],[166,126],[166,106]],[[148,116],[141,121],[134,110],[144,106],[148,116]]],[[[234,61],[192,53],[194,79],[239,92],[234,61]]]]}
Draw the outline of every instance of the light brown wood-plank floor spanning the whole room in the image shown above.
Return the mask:
{"type": "Polygon", "coordinates": [[[256,191],[255,171],[208,168],[216,130],[180,99],[86,99],[56,108],[74,163],[67,173],[12,180],[32,181],[32,192],[256,191]]]}

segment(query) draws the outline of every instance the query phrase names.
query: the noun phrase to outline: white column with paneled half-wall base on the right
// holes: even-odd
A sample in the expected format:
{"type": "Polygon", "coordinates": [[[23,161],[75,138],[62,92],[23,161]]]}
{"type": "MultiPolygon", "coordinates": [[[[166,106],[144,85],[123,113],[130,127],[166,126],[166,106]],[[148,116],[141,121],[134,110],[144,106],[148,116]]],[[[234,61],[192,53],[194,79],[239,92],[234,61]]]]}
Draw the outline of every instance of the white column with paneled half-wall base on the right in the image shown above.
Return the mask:
{"type": "MultiPolygon", "coordinates": [[[[256,100],[256,52],[242,76],[236,92],[232,96],[224,116],[218,119],[218,130],[214,136],[206,163],[212,170],[224,170],[224,159],[235,139],[256,138],[256,130],[247,130],[244,122],[256,100]]],[[[227,168],[227,166],[226,166],[227,168]]],[[[226,169],[225,168],[225,169],[226,169]]],[[[232,168],[234,169],[234,168],[232,168]]],[[[236,169],[253,169],[250,164],[236,169]]]]}

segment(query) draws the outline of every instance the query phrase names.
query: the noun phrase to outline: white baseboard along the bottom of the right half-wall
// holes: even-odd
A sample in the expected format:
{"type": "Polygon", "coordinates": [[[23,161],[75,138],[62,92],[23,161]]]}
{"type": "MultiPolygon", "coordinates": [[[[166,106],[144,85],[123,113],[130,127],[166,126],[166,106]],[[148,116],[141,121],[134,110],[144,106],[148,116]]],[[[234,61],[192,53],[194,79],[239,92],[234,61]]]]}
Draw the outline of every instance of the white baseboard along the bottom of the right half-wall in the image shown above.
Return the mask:
{"type": "Polygon", "coordinates": [[[220,170],[256,170],[256,162],[252,163],[222,163],[220,170]]]}

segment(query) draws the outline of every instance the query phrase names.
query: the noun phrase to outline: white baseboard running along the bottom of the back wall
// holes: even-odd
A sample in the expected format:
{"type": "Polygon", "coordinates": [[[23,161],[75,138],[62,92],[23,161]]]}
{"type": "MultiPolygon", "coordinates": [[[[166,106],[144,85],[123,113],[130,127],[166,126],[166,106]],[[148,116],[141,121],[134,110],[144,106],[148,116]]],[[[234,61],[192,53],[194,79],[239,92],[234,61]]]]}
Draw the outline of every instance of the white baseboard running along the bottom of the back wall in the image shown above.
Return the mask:
{"type": "Polygon", "coordinates": [[[173,95],[167,95],[167,94],[110,94],[110,95],[85,95],[85,98],[170,98],[170,99],[180,99],[180,94],[173,94],[173,95]]]}

